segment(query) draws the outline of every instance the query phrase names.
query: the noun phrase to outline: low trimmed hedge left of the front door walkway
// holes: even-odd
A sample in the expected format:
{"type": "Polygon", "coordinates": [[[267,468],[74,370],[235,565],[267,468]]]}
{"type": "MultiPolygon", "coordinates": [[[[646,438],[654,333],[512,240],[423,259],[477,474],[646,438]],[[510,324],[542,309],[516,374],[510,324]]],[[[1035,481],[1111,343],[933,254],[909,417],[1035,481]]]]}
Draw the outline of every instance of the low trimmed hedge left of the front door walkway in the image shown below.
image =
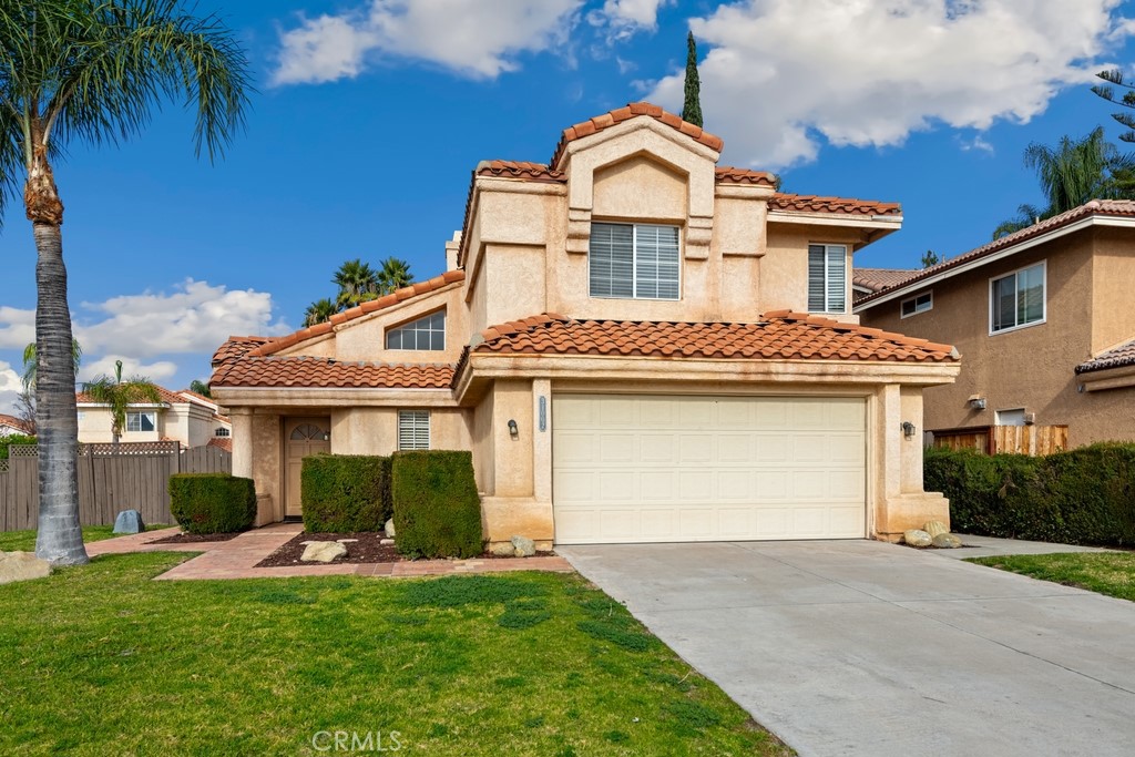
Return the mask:
{"type": "Polygon", "coordinates": [[[169,511],[190,533],[246,531],[257,520],[257,489],[228,473],[174,473],[169,511]]]}

